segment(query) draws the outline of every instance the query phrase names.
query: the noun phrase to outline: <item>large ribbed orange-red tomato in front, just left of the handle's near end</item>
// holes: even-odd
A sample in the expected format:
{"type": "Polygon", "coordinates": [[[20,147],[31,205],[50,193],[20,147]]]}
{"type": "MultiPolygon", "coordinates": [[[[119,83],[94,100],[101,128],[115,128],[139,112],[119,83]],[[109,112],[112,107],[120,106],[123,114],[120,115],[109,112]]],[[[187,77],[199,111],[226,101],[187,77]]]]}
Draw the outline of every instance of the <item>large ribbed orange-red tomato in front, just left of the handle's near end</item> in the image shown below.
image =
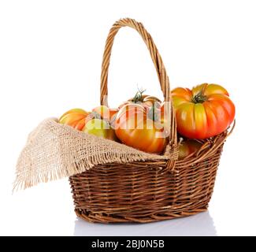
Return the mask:
{"type": "Polygon", "coordinates": [[[160,122],[148,117],[144,106],[126,104],[117,113],[115,132],[122,143],[150,153],[161,153],[166,144],[160,122]]]}

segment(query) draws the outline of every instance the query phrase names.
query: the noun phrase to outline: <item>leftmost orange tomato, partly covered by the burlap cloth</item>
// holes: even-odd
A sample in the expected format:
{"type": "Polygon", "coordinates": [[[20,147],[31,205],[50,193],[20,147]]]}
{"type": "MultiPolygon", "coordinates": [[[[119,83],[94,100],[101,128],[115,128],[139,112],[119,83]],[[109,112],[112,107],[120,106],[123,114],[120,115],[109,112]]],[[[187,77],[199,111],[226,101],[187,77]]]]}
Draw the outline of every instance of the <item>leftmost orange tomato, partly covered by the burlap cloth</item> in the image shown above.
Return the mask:
{"type": "Polygon", "coordinates": [[[83,109],[70,109],[60,117],[59,122],[82,130],[88,115],[89,113],[83,109]]]}

